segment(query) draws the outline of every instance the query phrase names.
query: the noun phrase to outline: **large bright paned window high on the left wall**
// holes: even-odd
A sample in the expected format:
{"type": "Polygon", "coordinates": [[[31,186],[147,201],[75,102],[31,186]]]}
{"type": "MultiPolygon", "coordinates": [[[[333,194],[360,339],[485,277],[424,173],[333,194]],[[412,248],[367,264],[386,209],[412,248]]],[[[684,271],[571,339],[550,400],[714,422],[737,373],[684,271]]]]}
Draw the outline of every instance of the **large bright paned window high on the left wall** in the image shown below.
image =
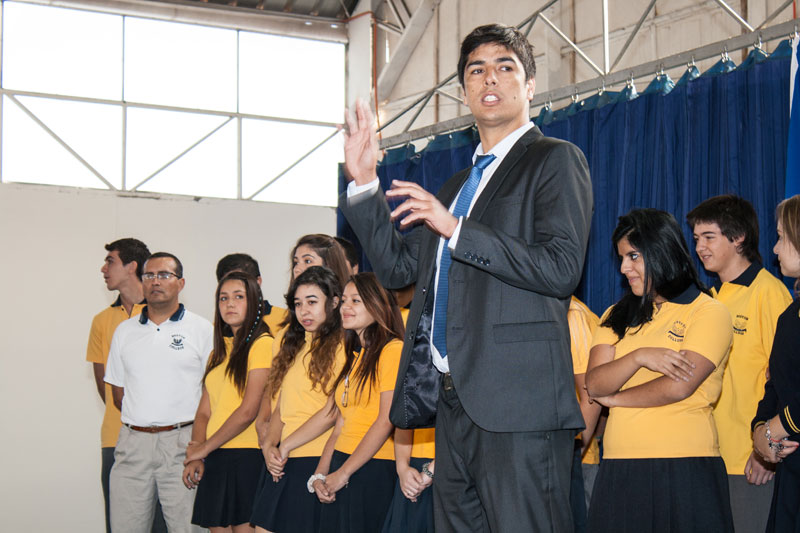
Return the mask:
{"type": "Polygon", "coordinates": [[[336,204],[344,45],[3,8],[3,182],[336,204]]]}

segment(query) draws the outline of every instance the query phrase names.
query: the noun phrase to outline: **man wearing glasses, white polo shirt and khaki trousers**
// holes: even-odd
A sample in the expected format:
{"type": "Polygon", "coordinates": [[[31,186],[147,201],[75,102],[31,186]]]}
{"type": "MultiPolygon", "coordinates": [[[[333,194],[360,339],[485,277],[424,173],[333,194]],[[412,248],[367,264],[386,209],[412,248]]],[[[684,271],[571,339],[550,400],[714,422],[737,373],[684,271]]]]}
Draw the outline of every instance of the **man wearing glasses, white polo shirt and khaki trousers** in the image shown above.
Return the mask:
{"type": "Polygon", "coordinates": [[[169,531],[189,532],[194,492],[181,474],[213,328],[179,303],[185,280],[174,255],[151,255],[142,282],[147,306],[117,328],[106,369],[122,412],[111,469],[111,529],[147,531],[159,501],[169,531]]]}

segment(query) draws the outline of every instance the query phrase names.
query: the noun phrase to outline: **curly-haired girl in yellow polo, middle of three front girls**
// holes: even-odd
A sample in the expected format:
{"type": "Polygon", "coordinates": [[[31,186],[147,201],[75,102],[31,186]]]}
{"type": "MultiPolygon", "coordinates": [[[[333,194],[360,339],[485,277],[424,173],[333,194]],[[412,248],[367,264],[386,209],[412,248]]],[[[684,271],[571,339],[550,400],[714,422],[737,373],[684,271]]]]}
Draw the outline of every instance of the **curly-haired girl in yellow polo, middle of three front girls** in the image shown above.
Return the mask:
{"type": "Polygon", "coordinates": [[[256,531],[316,533],[320,504],[306,482],[320,461],[332,430],[281,456],[277,449],[326,405],[344,363],[339,305],[342,291],[328,268],[312,266],[289,287],[289,324],[275,339],[270,390],[277,396],[262,443],[270,474],[253,507],[256,531]]]}

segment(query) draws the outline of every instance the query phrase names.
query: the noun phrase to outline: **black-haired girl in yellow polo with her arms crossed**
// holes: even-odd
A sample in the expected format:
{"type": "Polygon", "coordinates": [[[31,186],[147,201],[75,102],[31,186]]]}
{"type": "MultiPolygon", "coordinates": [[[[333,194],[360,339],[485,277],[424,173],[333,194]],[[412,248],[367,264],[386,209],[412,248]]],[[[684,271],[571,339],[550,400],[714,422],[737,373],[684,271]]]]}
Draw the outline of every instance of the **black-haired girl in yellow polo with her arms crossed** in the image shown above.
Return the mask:
{"type": "Polygon", "coordinates": [[[586,373],[589,395],[610,408],[588,530],[733,531],[711,416],[730,314],[669,213],[633,210],[612,240],[630,290],[603,315],[586,373]]]}

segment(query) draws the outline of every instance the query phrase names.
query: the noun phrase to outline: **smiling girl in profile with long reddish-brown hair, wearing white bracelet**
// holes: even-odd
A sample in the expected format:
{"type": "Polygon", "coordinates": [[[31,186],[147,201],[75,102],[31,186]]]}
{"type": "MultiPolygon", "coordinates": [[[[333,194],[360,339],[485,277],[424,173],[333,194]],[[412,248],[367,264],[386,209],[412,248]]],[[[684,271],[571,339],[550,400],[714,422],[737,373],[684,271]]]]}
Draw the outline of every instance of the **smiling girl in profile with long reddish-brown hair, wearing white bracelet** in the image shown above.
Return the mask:
{"type": "Polygon", "coordinates": [[[389,421],[404,327],[394,297],[372,273],[350,278],[342,295],[347,359],[327,405],[281,442],[286,456],[328,428],[336,430],[308,480],[322,506],[320,531],[381,530],[396,479],[389,421]]]}

